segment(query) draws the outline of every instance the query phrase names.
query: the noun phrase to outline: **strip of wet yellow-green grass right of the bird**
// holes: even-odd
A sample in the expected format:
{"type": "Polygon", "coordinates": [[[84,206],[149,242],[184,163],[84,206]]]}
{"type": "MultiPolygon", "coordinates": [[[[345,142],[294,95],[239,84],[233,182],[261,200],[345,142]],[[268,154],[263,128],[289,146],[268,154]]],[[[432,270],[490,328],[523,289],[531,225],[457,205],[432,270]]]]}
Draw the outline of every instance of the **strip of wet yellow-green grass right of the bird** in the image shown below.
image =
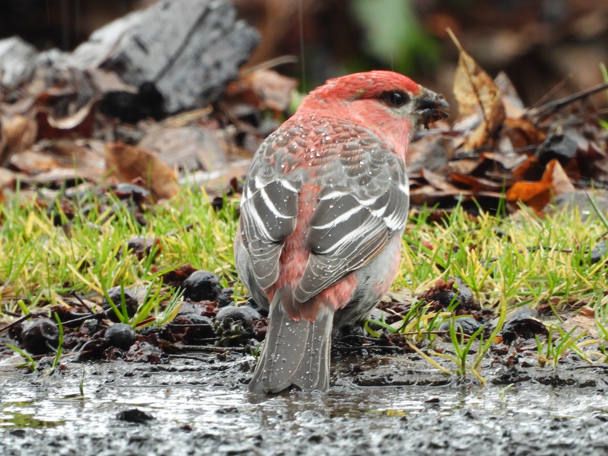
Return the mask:
{"type": "Polygon", "coordinates": [[[593,262],[606,227],[578,212],[540,219],[527,210],[500,218],[472,217],[456,209],[440,223],[429,212],[413,217],[404,235],[404,261],[397,288],[419,292],[437,278],[460,278],[483,306],[556,309],[595,300],[608,291],[608,265],[593,262]]]}

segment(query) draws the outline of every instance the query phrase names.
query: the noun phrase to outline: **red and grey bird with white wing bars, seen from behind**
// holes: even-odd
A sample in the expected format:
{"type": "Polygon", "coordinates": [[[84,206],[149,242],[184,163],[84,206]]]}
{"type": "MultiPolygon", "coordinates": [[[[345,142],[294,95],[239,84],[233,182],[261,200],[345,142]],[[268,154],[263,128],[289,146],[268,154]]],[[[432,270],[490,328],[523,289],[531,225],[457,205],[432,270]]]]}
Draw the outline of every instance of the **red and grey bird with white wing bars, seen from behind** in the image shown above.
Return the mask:
{"type": "Polygon", "coordinates": [[[398,273],[413,134],[447,108],[399,73],[350,74],[309,92],[261,143],[233,246],[269,317],[249,392],[328,390],[333,328],[364,319],[398,273]]]}

